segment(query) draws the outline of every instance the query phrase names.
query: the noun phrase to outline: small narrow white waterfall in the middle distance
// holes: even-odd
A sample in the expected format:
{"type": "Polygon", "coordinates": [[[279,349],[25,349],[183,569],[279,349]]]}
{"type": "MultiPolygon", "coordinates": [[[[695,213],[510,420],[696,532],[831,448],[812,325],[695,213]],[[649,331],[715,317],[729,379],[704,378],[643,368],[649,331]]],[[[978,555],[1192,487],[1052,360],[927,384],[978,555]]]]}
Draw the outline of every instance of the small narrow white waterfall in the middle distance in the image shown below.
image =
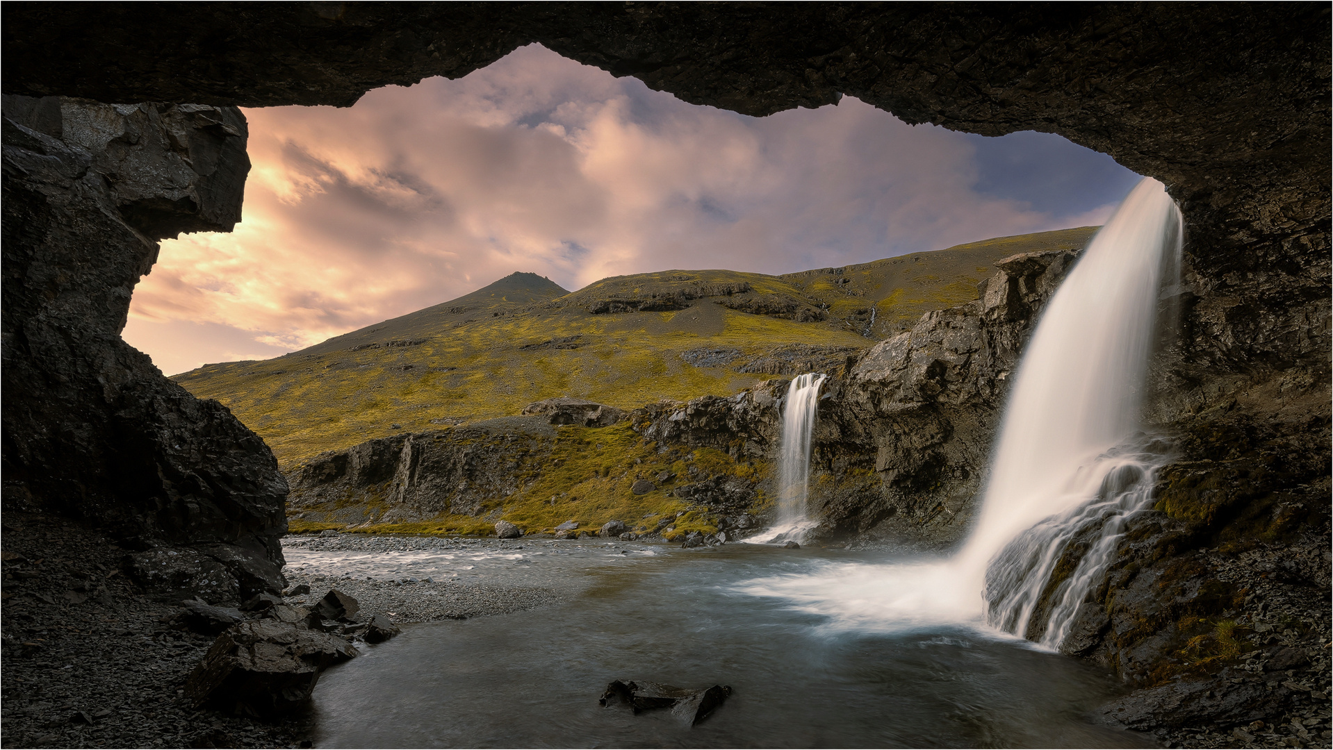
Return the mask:
{"type": "Polygon", "coordinates": [[[820,386],[828,376],[805,373],[786,389],[782,406],[782,446],[778,465],[777,524],[752,542],[801,541],[814,522],[806,505],[810,489],[810,434],[818,412],[820,386]]]}

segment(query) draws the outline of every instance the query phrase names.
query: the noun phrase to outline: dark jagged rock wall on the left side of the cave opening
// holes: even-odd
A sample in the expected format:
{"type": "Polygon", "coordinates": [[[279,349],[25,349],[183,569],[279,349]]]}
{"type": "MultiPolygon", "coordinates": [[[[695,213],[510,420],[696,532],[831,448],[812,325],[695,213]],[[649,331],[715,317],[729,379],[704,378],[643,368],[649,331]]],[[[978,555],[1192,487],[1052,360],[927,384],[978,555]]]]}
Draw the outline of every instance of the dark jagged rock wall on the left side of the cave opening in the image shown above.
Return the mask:
{"type": "Polygon", "coordinates": [[[120,338],[157,240],[240,218],[244,117],[7,96],[3,125],[5,508],[159,549],[143,581],[172,595],[204,569],[220,590],[280,589],[287,484],[272,453],[120,338]],[[188,570],[168,571],[183,546],[188,570]]]}

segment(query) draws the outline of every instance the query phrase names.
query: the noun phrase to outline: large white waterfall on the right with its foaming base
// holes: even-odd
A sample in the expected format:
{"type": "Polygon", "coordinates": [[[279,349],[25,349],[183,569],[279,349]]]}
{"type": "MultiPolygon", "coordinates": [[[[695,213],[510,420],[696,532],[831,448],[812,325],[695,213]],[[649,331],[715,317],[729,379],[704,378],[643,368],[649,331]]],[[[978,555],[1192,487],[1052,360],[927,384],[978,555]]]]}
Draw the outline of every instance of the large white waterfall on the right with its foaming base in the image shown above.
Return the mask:
{"type": "Polygon", "coordinates": [[[829,567],[749,590],[846,626],[984,619],[1057,647],[1162,462],[1138,417],[1160,289],[1180,246],[1180,210],[1161,183],[1142,180],[1046,306],[1005,406],[976,526],[953,558],[829,567]],[[1040,607],[1070,544],[1085,552],[1040,607]]]}

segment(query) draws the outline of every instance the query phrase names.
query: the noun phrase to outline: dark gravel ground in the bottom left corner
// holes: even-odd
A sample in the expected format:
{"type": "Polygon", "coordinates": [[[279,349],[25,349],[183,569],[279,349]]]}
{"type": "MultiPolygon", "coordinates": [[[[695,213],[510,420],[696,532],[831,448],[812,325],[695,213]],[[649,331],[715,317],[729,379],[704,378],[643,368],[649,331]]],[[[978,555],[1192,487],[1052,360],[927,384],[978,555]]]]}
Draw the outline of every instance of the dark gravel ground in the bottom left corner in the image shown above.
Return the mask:
{"type": "Polygon", "coordinates": [[[97,532],[5,513],[3,552],[0,747],[303,746],[303,717],[261,723],[181,698],[213,638],[167,630],[176,607],[125,581],[125,553],[97,532]]]}

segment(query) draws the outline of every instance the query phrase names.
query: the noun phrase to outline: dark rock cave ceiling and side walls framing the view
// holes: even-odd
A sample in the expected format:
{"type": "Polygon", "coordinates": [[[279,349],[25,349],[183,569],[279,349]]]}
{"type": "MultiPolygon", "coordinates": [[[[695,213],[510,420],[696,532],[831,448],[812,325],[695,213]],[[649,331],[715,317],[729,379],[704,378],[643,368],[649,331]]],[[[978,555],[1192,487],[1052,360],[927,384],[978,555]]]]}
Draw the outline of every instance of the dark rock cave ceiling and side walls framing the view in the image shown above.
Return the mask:
{"type": "Polygon", "coordinates": [[[537,43],[692,104],[848,95],[910,124],[1057,133],[1162,181],[1186,222],[1180,333],[1153,364],[1153,422],[1181,436],[1162,492],[1201,502],[1244,477],[1221,526],[1274,494],[1328,524],[1326,4],[32,3],[4,21],[5,510],[280,587],[272,453],[120,340],[131,292],[157,240],[239,221],[237,107],[348,107],[537,43]],[[136,128],[172,148],[136,148],[136,128]]]}

